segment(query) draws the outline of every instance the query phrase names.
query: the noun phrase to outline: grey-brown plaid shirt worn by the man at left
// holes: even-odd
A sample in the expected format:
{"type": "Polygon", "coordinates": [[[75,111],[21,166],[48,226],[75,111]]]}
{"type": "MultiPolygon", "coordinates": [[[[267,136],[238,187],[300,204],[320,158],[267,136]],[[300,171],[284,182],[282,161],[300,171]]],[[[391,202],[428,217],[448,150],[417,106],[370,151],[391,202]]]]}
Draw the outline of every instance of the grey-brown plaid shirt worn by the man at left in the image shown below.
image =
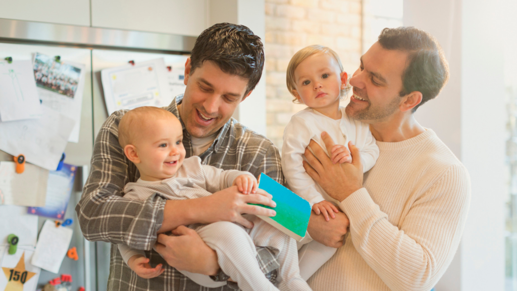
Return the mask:
{"type": "MultiPolygon", "coordinates": [[[[177,103],[183,95],[166,108],[178,119],[177,103]]],[[[111,242],[111,263],[108,290],[235,290],[235,284],[220,288],[206,288],[170,267],[163,258],[151,250],[163,221],[165,199],[153,195],[145,201],[123,198],[122,190],[128,182],[138,180],[140,174],[130,163],[118,143],[118,123],[127,110],[114,112],[104,122],[95,140],[92,165],[83,195],[75,211],[84,237],[90,241],[111,242]],[[151,264],[163,264],[165,271],[157,278],[138,277],[123,261],[116,244],[124,243],[133,249],[146,250],[151,264]],[[150,251],[149,251],[150,250],[150,251]]],[[[192,155],[190,135],[181,121],[186,157],[192,155]]],[[[220,130],[216,140],[201,154],[202,163],[224,170],[249,171],[255,177],[261,172],[285,184],[278,149],[267,138],[252,132],[230,119],[220,130]]],[[[257,260],[264,274],[275,280],[279,266],[274,252],[257,246],[257,260]]],[[[224,273],[218,275],[225,280],[224,273]]]]}

